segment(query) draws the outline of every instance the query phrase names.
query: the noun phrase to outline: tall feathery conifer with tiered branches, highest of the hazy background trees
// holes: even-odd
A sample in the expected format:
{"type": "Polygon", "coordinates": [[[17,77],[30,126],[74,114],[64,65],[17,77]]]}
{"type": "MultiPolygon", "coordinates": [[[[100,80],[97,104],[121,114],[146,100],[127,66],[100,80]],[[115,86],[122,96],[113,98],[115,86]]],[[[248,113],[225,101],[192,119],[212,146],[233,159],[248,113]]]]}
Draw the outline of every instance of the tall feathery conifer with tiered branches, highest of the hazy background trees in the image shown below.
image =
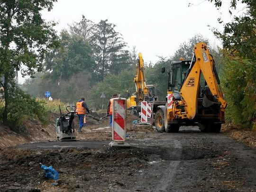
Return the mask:
{"type": "Polygon", "coordinates": [[[123,50],[126,43],[121,34],[115,31],[116,25],[101,20],[95,25],[91,47],[96,62],[95,71],[102,80],[109,73],[118,74],[130,65],[128,51],[123,50]]]}

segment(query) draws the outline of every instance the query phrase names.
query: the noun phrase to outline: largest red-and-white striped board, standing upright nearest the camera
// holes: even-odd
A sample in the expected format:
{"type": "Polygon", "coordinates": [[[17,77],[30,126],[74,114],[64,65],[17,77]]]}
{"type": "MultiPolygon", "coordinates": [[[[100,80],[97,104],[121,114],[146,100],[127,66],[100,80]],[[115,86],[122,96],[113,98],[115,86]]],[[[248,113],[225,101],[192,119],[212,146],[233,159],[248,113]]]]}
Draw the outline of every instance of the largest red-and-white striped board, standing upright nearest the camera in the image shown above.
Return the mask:
{"type": "Polygon", "coordinates": [[[115,98],[113,100],[112,109],[112,140],[113,141],[125,141],[126,135],[126,99],[115,98]]]}

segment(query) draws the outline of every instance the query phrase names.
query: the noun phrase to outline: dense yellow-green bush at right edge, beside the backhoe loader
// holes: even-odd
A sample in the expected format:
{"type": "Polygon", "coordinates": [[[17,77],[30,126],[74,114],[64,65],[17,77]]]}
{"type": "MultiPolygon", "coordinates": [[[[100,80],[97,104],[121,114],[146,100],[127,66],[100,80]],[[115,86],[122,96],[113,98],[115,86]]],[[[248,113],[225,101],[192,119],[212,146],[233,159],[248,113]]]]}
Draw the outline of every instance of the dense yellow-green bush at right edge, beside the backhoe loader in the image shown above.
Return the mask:
{"type": "Polygon", "coordinates": [[[233,124],[253,127],[256,121],[256,65],[247,58],[230,55],[223,61],[220,77],[228,101],[226,118],[233,124]]]}

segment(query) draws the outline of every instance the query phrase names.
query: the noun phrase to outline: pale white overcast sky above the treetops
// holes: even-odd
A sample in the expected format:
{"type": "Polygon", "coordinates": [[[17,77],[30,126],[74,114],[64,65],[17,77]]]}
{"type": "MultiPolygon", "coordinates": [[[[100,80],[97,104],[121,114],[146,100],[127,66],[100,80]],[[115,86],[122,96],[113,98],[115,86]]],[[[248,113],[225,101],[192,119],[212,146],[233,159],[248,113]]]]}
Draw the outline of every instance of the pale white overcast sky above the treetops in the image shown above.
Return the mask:
{"type": "MultiPolygon", "coordinates": [[[[135,45],[145,62],[155,63],[157,56],[169,57],[182,42],[195,34],[210,39],[212,45],[221,45],[208,25],[222,30],[231,21],[230,0],[222,0],[220,10],[208,0],[58,0],[51,12],[42,12],[42,17],[58,22],[55,30],[68,29],[68,24],[79,22],[82,15],[94,23],[108,19],[123,35],[128,50],[135,45]],[[189,6],[190,5],[190,6],[189,6]]],[[[240,15],[245,5],[238,3],[233,15],[240,15]]],[[[19,78],[23,83],[24,79],[19,78]]]]}

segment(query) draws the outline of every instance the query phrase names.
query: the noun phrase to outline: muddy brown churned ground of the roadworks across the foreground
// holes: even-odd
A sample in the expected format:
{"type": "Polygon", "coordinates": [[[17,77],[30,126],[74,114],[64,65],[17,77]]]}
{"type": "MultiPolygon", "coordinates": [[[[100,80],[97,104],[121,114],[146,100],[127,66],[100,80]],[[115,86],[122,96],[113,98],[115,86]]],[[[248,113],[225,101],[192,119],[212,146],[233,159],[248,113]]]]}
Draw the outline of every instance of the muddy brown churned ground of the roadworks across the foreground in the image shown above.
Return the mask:
{"type": "Polygon", "coordinates": [[[130,148],[108,146],[107,119],[89,120],[76,142],[55,142],[54,131],[45,129],[46,142],[1,148],[0,191],[256,191],[254,147],[198,127],[160,134],[149,125],[132,125],[133,120],[129,114],[130,148]],[[39,163],[53,166],[59,180],[46,179],[39,163]]]}

